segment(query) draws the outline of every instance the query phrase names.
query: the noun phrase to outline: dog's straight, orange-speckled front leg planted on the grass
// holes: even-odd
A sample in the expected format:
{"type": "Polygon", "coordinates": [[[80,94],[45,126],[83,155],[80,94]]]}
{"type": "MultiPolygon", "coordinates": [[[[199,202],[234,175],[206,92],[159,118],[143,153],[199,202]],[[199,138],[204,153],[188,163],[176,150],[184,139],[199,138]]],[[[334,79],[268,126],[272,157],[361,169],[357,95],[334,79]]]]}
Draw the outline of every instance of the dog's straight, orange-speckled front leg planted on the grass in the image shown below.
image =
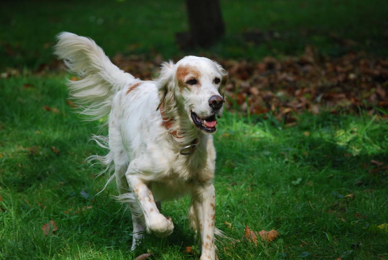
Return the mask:
{"type": "Polygon", "coordinates": [[[195,225],[200,231],[202,240],[200,260],[215,260],[215,190],[213,184],[204,184],[194,189],[192,203],[195,225]]]}

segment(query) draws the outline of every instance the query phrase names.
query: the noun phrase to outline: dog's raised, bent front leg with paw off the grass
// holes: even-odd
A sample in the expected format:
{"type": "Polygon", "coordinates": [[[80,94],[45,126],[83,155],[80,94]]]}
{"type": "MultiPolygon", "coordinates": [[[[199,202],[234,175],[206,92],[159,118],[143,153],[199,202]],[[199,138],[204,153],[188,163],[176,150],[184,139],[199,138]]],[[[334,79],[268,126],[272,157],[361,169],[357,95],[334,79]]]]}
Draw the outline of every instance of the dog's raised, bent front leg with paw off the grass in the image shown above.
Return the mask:
{"type": "Polygon", "coordinates": [[[166,218],[159,212],[152,192],[148,189],[147,185],[130,170],[130,166],[127,170],[126,177],[144,214],[146,231],[148,233],[153,232],[159,237],[171,234],[174,230],[174,224],[171,218],[166,218]]]}

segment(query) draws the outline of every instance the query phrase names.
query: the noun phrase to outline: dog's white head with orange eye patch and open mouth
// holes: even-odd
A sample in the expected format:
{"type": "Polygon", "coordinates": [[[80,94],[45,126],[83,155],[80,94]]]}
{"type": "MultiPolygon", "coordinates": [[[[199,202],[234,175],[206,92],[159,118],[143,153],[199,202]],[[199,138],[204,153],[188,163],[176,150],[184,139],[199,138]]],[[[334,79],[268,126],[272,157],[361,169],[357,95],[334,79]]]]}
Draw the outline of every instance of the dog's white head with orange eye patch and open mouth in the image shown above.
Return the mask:
{"type": "MultiPolygon", "coordinates": [[[[220,64],[203,57],[186,56],[174,64],[162,64],[158,78],[160,104],[184,113],[201,131],[216,130],[216,115],[223,111],[227,73],[220,64]]],[[[158,108],[159,108],[158,107],[158,108]]]]}

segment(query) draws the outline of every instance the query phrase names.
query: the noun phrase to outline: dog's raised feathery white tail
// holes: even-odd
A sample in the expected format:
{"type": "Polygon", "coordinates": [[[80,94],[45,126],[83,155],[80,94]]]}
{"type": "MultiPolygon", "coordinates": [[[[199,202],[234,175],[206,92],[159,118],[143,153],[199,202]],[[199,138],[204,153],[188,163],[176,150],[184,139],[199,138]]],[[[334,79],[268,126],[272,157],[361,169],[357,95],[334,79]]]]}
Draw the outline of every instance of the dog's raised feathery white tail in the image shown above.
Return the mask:
{"type": "Polygon", "coordinates": [[[90,38],[71,32],[57,35],[54,54],[65,61],[68,71],[81,80],[68,80],[70,97],[94,120],[109,114],[114,94],[135,78],[117,68],[90,38]]]}

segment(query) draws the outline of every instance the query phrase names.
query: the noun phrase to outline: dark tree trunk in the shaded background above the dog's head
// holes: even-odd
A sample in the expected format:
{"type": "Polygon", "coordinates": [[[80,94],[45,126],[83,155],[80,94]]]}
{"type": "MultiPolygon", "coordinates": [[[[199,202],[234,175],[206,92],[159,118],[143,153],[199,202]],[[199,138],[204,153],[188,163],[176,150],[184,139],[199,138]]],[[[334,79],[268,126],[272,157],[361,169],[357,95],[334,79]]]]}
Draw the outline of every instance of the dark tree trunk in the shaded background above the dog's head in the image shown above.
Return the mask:
{"type": "Polygon", "coordinates": [[[225,33],[218,0],[186,0],[189,16],[190,41],[194,45],[210,46],[225,33]]]}

